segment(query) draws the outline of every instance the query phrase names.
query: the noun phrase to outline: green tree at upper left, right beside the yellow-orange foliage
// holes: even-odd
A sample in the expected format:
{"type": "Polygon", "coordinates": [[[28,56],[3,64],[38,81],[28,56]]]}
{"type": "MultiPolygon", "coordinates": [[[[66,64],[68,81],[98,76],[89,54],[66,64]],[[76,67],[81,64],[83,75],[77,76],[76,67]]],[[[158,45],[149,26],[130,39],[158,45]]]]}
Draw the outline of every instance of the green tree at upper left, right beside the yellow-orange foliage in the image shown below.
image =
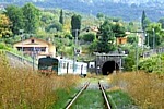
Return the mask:
{"type": "Polygon", "coordinates": [[[20,34],[20,29],[24,28],[24,15],[22,12],[22,9],[15,5],[9,5],[5,8],[5,14],[10,19],[10,21],[12,22],[12,26],[11,29],[13,32],[14,35],[20,34]]]}

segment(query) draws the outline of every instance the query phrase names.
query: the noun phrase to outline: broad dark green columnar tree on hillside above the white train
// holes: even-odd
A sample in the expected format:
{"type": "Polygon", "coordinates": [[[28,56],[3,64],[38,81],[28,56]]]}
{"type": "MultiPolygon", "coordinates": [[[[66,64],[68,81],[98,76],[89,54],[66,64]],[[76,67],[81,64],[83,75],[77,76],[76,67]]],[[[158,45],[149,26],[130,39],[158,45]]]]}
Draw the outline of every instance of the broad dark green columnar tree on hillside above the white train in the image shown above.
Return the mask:
{"type": "Polygon", "coordinates": [[[79,36],[80,29],[81,29],[81,16],[74,14],[71,17],[71,33],[72,33],[72,36],[75,37],[75,34],[77,34],[75,31],[78,31],[78,36],[79,36]]]}

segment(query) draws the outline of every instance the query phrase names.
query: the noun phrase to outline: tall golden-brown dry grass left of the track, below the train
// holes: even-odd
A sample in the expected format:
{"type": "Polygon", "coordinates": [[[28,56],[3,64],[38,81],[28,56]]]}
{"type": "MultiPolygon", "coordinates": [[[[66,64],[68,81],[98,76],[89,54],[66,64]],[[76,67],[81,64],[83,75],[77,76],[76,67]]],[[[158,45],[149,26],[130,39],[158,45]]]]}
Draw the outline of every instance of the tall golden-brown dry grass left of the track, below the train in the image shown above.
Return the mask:
{"type": "Polygon", "coordinates": [[[0,55],[0,109],[48,109],[62,100],[78,82],[78,76],[46,77],[30,69],[13,69],[0,55]],[[65,93],[58,95],[58,90],[65,93]]]}

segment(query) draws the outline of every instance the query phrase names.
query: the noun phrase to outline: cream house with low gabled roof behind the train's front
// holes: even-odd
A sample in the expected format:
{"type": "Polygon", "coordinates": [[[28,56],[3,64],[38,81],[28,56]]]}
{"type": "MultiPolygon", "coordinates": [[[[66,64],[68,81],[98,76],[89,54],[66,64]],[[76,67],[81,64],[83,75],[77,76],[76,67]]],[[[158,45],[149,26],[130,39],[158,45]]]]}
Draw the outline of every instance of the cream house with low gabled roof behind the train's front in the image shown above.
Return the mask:
{"type": "Polygon", "coordinates": [[[13,45],[19,51],[23,51],[23,55],[34,56],[38,59],[45,56],[56,56],[56,47],[44,39],[31,37],[28,39],[21,40],[13,45]]]}

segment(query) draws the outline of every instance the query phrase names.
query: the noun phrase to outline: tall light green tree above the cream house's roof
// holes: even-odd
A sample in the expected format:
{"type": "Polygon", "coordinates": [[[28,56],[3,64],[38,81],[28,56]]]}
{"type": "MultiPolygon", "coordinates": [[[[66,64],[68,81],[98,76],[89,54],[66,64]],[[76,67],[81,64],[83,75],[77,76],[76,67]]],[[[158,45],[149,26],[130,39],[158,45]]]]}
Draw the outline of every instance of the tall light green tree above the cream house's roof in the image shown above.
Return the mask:
{"type": "Polygon", "coordinates": [[[26,3],[23,8],[25,33],[36,33],[39,24],[39,10],[33,3],[26,3]]]}

